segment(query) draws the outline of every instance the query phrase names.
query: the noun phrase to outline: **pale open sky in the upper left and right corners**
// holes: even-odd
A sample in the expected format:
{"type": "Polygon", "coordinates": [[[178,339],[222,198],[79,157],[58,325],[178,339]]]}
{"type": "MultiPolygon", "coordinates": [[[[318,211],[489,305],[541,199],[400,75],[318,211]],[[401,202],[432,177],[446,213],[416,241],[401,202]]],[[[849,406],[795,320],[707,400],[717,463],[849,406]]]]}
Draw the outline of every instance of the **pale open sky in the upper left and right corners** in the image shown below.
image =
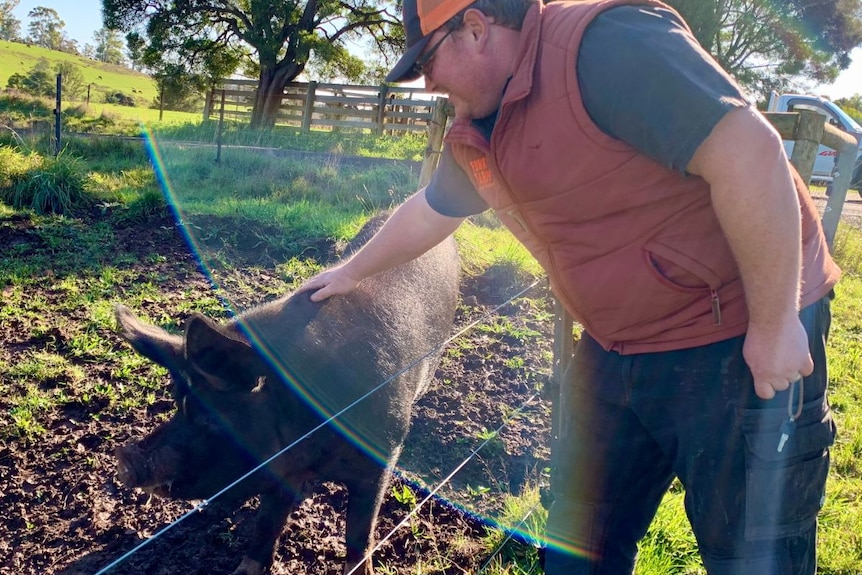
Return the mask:
{"type": "MultiPolygon", "coordinates": [[[[78,45],[94,44],[93,33],[102,27],[101,0],[20,0],[15,17],[21,21],[21,32],[26,35],[30,19],[27,13],[37,6],[53,8],[66,23],[66,34],[78,45]]],[[[830,99],[847,98],[862,94],[862,47],[851,52],[853,64],[838,79],[828,85],[812,88],[812,92],[830,99]]]]}

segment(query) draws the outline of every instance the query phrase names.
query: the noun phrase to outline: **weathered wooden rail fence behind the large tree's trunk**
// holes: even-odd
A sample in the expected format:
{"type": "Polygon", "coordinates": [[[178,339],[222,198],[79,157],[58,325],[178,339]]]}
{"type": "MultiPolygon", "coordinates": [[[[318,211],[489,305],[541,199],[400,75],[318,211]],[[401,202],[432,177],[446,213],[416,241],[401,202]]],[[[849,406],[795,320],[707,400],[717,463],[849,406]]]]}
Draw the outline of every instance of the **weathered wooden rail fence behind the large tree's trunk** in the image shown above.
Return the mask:
{"type": "MultiPolygon", "coordinates": [[[[225,80],[207,95],[204,119],[221,116],[248,122],[256,80],[225,80]]],[[[447,100],[421,88],[291,82],[285,89],[276,124],[308,131],[341,128],[373,132],[425,132],[445,118],[447,100]]]]}

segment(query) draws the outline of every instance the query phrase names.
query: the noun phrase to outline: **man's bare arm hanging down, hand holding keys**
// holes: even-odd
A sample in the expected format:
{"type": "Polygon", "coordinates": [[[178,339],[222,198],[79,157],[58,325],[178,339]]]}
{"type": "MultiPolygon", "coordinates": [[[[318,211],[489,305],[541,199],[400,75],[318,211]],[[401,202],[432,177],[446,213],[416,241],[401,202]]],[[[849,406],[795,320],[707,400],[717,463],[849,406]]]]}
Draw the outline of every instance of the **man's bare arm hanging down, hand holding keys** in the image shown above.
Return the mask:
{"type": "Polygon", "coordinates": [[[745,288],[745,361],[757,395],[770,399],[814,367],[798,315],[799,200],[781,138],[757,110],[733,110],[700,144],[687,171],[710,184],[745,288]]]}

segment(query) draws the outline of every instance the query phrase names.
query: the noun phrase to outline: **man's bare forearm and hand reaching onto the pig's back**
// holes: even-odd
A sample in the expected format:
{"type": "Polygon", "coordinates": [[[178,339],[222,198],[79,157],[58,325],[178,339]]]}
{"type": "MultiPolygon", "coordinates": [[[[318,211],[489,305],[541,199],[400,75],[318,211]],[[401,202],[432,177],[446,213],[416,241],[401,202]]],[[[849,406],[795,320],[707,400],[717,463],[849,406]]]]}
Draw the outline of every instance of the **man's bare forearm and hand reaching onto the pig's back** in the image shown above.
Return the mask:
{"type": "Polygon", "coordinates": [[[301,289],[316,290],[312,301],[345,294],[363,279],[419,257],[449,237],[463,221],[435,211],[428,205],[423,188],[401,204],[349,260],[311,278],[301,289]]]}

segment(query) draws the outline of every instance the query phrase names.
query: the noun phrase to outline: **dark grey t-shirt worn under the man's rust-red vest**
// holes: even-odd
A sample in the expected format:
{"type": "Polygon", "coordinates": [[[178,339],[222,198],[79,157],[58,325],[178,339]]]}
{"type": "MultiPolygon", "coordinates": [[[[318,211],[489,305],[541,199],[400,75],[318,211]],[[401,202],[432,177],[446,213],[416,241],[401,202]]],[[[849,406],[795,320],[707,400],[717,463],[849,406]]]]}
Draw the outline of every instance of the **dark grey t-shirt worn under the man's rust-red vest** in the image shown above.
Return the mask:
{"type": "MultiPolygon", "coordinates": [[[[679,171],[727,112],[748,105],[665,8],[621,6],[599,14],[584,33],[577,72],[584,106],[599,128],[679,171]]],[[[490,140],[496,118],[495,112],[473,124],[490,140]]],[[[448,146],[425,194],[447,216],[487,209],[448,146]]]]}

